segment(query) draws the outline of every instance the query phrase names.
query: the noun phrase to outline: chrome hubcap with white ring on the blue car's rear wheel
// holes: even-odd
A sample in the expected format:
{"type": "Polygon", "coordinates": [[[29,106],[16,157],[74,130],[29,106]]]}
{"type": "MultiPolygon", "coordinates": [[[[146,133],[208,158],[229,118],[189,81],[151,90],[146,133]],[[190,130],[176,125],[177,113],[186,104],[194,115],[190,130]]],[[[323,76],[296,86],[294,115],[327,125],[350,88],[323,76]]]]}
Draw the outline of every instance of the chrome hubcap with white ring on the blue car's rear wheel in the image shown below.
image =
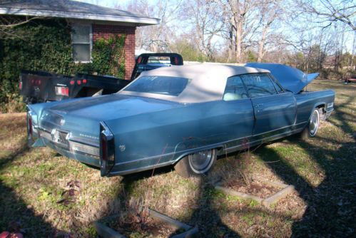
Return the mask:
{"type": "Polygon", "coordinates": [[[190,168],[198,174],[207,172],[213,163],[213,150],[204,150],[189,155],[190,168]]]}

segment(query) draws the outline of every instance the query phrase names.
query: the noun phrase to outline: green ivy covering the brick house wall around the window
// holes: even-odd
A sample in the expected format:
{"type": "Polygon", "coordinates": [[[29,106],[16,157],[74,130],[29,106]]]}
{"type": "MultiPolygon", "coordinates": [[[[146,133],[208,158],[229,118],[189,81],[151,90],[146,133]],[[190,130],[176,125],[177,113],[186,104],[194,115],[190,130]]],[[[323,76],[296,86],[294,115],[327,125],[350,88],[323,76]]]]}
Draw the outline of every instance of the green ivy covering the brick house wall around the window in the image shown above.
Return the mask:
{"type": "Polygon", "coordinates": [[[99,39],[93,43],[91,63],[74,63],[71,27],[66,20],[41,19],[19,26],[14,38],[0,39],[0,110],[24,110],[18,88],[21,69],[123,78],[125,39],[125,35],[99,39]]]}

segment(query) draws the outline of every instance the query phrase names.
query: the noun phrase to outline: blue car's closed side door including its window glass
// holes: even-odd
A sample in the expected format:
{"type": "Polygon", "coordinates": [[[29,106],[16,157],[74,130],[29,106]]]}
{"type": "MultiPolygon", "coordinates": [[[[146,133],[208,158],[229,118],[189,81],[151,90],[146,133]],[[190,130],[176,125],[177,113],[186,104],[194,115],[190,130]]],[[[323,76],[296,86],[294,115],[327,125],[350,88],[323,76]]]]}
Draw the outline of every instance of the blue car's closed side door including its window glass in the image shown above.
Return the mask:
{"type": "Polygon", "coordinates": [[[268,73],[250,73],[240,77],[253,104],[253,135],[265,138],[292,130],[296,117],[293,93],[283,90],[268,73]]]}

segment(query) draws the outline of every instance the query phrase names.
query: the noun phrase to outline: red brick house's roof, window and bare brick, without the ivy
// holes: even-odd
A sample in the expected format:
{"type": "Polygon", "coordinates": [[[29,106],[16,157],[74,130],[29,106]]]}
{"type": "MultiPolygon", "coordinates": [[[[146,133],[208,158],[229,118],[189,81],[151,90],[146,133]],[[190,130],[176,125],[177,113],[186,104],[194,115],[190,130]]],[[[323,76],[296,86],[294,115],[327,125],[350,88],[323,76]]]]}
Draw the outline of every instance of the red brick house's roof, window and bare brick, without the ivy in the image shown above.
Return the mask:
{"type": "Polygon", "coordinates": [[[128,11],[70,0],[0,0],[0,14],[40,16],[67,19],[71,25],[73,59],[91,62],[93,41],[126,34],[124,46],[126,79],[130,79],[135,65],[135,31],[139,26],[160,23],[128,11]]]}

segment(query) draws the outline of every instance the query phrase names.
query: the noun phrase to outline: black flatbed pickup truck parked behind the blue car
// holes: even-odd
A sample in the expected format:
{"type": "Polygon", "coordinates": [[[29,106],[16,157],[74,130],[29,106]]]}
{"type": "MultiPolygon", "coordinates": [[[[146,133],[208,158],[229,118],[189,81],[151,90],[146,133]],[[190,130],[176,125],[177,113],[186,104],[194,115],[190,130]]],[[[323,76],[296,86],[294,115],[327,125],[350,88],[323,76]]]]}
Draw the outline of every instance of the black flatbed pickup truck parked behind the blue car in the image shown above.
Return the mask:
{"type": "MultiPolygon", "coordinates": [[[[183,65],[182,56],[178,53],[143,53],[136,58],[131,81],[142,71],[172,65],[183,65]]],[[[86,73],[77,73],[73,77],[44,71],[21,71],[19,88],[24,102],[31,104],[116,93],[131,81],[86,73]]]]}

